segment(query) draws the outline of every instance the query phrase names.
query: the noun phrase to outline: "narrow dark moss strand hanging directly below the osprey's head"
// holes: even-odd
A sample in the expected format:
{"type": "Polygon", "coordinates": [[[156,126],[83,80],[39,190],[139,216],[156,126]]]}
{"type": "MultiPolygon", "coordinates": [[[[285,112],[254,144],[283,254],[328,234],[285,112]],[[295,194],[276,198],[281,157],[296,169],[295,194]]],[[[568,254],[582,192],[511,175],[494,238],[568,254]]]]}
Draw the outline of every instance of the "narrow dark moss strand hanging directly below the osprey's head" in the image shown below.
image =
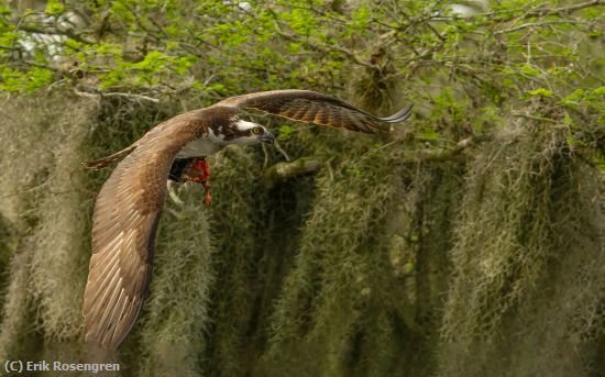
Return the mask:
{"type": "Polygon", "coordinates": [[[212,235],[217,241],[213,260],[216,287],[210,315],[208,365],[217,376],[244,373],[251,351],[250,321],[257,286],[257,213],[264,193],[261,167],[250,149],[229,147],[212,165],[212,235]]]}

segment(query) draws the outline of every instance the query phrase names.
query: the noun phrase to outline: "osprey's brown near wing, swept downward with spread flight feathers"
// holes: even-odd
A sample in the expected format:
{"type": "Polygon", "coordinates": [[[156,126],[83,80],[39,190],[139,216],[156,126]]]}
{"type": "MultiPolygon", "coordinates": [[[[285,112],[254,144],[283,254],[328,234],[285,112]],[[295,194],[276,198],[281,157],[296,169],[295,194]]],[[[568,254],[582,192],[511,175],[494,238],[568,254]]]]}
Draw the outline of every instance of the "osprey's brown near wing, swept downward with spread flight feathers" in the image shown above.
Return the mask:
{"type": "Polygon", "coordinates": [[[178,151],[204,124],[188,114],[151,130],[97,197],[82,313],[88,342],[116,348],[130,332],[151,281],[154,239],[178,151]]]}

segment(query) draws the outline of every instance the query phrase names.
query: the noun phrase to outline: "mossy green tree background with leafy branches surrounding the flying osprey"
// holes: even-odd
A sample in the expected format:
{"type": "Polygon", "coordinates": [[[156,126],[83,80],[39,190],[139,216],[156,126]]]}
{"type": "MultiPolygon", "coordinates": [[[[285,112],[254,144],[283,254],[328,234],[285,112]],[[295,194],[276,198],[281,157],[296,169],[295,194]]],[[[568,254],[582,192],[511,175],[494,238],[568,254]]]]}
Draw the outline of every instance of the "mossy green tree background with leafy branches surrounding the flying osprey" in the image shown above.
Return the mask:
{"type": "Polygon", "coordinates": [[[605,376],[604,21],[603,0],[2,2],[0,361],[92,357],[110,169],[82,160],[305,88],[415,117],[251,114],[278,147],[213,157],[210,210],[170,193],[117,375],[605,376]]]}

